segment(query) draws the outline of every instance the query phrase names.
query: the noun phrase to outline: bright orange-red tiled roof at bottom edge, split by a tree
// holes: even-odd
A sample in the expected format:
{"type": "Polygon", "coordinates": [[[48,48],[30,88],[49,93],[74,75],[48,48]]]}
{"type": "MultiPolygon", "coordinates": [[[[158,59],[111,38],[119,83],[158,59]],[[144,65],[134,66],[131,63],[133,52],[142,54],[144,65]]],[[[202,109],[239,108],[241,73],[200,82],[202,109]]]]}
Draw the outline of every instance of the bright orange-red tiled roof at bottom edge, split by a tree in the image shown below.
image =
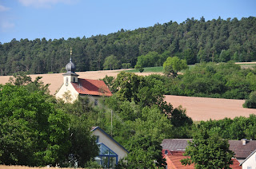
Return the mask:
{"type": "MultiPolygon", "coordinates": [[[[194,168],[194,164],[190,164],[190,165],[182,165],[181,163],[181,159],[186,159],[186,156],[182,155],[183,152],[182,151],[170,151],[170,154],[165,155],[164,158],[166,158],[166,163],[168,168],[174,168],[174,169],[192,169],[194,168]]],[[[237,159],[232,159],[233,164],[230,165],[231,168],[233,169],[242,169],[241,166],[239,166],[239,162],[237,159]]]]}

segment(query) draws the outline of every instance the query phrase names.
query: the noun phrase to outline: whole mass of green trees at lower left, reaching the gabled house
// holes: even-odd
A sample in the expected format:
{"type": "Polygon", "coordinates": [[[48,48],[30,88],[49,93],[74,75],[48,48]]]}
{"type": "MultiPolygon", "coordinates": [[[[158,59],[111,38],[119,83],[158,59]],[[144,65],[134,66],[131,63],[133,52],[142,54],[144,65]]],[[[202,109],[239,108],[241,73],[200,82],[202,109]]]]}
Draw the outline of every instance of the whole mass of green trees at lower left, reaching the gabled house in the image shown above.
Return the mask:
{"type": "Polygon", "coordinates": [[[40,79],[22,74],[0,85],[0,163],[84,167],[98,155],[90,123],[80,118],[90,108],[57,102],[40,79]]]}

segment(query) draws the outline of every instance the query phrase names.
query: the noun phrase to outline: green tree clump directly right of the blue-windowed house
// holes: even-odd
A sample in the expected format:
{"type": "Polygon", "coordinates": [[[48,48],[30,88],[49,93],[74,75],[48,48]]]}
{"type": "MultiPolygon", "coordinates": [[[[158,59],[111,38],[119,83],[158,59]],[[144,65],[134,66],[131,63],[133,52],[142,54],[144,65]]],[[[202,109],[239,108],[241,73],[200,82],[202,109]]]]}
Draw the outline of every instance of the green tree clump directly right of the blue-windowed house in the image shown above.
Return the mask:
{"type": "Polygon", "coordinates": [[[162,159],[161,143],[170,137],[170,121],[159,108],[145,107],[142,117],[134,121],[134,135],[128,140],[130,153],[126,163],[120,163],[120,168],[162,168],[166,163],[162,159]]]}

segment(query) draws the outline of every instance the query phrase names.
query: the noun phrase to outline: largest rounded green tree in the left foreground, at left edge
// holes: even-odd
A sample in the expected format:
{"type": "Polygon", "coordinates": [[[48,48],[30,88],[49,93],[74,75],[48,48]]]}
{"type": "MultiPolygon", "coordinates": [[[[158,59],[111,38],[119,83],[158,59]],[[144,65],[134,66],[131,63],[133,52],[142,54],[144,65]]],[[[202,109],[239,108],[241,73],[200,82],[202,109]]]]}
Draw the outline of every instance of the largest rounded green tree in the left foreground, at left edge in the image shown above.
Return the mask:
{"type": "Polygon", "coordinates": [[[43,166],[65,159],[69,118],[46,97],[23,85],[0,86],[1,163],[43,166]]]}

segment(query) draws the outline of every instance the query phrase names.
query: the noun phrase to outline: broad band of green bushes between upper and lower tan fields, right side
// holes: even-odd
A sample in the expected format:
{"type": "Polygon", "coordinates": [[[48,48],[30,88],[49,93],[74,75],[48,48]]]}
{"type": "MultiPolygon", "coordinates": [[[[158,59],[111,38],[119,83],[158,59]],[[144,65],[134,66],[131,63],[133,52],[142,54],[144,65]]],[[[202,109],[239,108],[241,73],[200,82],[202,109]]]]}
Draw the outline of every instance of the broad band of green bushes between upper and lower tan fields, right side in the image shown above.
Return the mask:
{"type": "Polygon", "coordinates": [[[247,99],[255,91],[256,69],[241,69],[234,62],[191,66],[177,78],[159,78],[165,94],[226,99],[247,99]]]}

